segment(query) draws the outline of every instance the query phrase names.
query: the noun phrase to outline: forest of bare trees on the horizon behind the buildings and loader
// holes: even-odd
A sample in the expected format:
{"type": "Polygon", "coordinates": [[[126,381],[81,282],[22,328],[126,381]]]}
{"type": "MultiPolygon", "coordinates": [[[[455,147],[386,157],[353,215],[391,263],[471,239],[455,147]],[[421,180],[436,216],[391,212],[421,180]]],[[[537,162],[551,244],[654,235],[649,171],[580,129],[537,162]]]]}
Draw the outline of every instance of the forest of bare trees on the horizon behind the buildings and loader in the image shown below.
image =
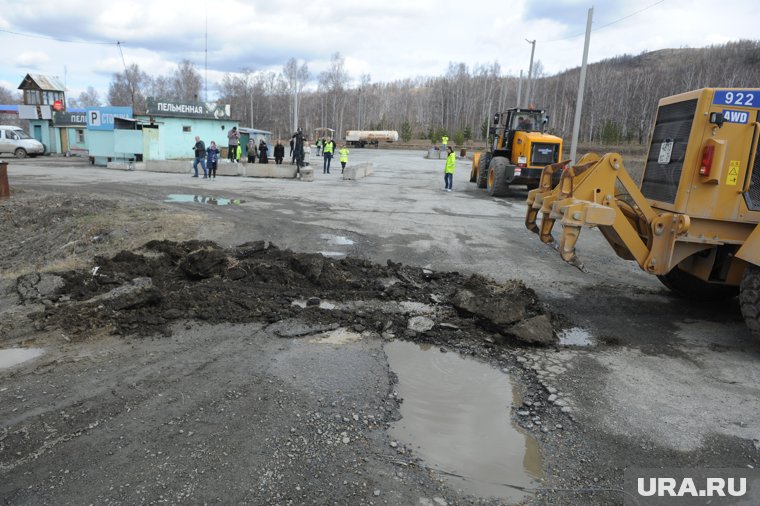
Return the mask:
{"type": "MultiPolygon", "coordinates": [[[[546,75],[534,65],[531,103],[551,116],[550,130],[570,140],[580,69],[546,75]]],[[[527,105],[522,86],[523,106],[527,105]]],[[[705,86],[760,87],[760,41],[738,41],[706,48],[663,49],[623,55],[589,65],[581,142],[644,143],[660,97],[705,86]]],[[[305,62],[291,58],[282,71],[226,74],[213,85],[218,102],[230,104],[243,126],[287,136],[297,126],[312,133],[317,127],[346,130],[397,130],[402,139],[440,138],[456,144],[480,140],[495,112],[517,105],[519,78],[502,75],[497,63],[449,63],[437,77],[410,77],[372,82],[368,74],[351,76],[335,53],[324,72],[312,75],[305,62]]],[[[1,90],[0,90],[1,91],[1,90]]],[[[144,110],[156,96],[178,101],[202,101],[203,79],[192,62],[183,60],[171,76],[152,77],[138,65],[114,74],[110,105],[144,110]]],[[[88,88],[71,105],[98,103],[88,88]]]]}

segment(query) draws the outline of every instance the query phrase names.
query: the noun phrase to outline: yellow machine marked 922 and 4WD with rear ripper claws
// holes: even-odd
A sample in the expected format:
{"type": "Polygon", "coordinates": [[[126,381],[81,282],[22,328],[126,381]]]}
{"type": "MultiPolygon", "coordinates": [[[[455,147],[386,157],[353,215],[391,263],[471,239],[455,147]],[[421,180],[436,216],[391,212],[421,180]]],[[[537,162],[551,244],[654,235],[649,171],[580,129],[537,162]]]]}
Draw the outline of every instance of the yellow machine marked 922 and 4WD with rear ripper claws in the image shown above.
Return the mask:
{"type": "Polygon", "coordinates": [[[618,256],[676,292],[738,294],[747,326],[760,335],[759,121],[760,89],[663,98],[640,186],[617,153],[548,165],[528,193],[525,225],[551,243],[559,221],[559,253],[581,269],[581,228],[597,227],[618,256]]]}

